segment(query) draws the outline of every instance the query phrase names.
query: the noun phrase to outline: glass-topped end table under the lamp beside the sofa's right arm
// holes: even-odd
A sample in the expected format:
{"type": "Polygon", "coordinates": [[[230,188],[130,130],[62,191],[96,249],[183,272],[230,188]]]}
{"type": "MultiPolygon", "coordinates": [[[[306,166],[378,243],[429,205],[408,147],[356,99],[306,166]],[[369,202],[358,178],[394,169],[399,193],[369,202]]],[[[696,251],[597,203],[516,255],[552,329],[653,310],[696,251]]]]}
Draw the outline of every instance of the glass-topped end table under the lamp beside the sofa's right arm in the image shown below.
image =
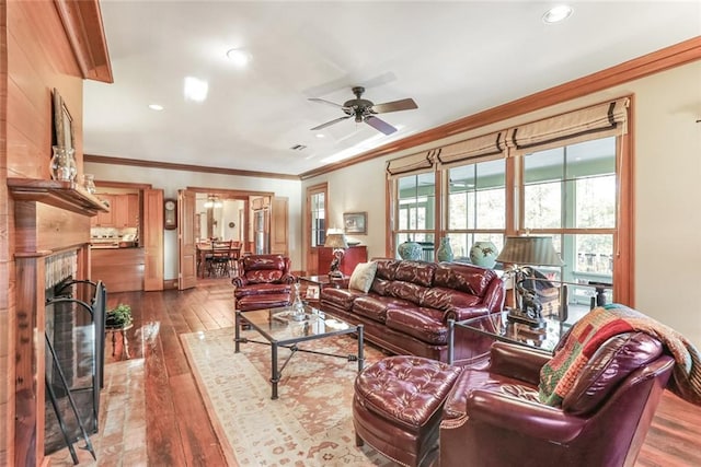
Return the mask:
{"type": "Polygon", "coordinates": [[[507,316],[508,312],[504,311],[462,322],[449,323],[448,362],[451,363],[453,360],[452,349],[456,339],[456,328],[461,332],[473,334],[472,338],[475,338],[475,353],[472,360],[475,361],[489,355],[489,348],[495,340],[517,343],[552,353],[562,336],[571,327],[570,324],[560,320],[544,318],[545,326],[537,329],[527,324],[508,320],[507,316]],[[474,334],[478,336],[474,336],[474,334]]]}

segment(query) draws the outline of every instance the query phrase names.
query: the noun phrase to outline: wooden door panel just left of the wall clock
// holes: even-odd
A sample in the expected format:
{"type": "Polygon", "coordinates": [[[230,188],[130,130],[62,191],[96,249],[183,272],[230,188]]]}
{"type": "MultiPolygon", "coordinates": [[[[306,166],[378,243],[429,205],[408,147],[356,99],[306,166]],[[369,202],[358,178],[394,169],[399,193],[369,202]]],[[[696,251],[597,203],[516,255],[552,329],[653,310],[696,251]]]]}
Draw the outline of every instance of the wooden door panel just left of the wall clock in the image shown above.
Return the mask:
{"type": "Polygon", "coordinates": [[[163,290],[163,190],[143,190],[143,290],[163,290]]]}

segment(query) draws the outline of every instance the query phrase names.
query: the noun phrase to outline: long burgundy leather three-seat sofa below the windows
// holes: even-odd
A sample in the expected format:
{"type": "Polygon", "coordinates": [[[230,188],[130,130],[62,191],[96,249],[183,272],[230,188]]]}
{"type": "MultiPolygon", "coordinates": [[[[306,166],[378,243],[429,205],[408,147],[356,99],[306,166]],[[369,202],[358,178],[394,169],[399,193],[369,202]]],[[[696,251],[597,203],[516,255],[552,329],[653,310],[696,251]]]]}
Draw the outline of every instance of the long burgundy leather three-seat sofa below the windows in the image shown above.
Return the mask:
{"type": "MultiPolygon", "coordinates": [[[[365,325],[365,338],[397,354],[448,361],[448,319],[501,311],[504,284],[491,269],[461,262],[377,259],[365,293],[324,288],[320,308],[365,325]]],[[[458,336],[459,337],[459,336],[458,336]]],[[[456,339],[456,362],[471,355],[469,339],[456,339]]]]}

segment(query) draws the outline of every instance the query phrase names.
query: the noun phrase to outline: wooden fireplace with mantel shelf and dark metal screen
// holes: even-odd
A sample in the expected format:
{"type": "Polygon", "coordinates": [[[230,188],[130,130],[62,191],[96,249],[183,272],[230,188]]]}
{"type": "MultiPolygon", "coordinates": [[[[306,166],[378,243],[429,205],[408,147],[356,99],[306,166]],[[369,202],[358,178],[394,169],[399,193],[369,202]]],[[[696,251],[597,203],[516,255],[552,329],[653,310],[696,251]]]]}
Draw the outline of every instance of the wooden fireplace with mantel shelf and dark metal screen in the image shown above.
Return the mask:
{"type": "MultiPolygon", "coordinates": [[[[70,300],[84,302],[88,308],[104,308],[104,293],[96,291],[97,285],[102,288],[102,284],[82,285],[82,281],[90,276],[90,218],[107,208],[71,182],[8,178],[7,183],[14,205],[12,237],[16,283],[16,331],[12,346],[15,375],[14,465],[43,465],[46,398],[48,394],[50,399],[49,393],[57,388],[60,380],[57,369],[66,366],[68,380],[73,384],[85,378],[101,382],[101,365],[96,364],[101,359],[93,357],[95,363],[85,364],[82,351],[92,342],[100,342],[102,347],[94,355],[104,354],[104,332],[95,331],[95,326],[100,329],[102,322],[93,323],[92,328],[88,326],[87,323],[93,318],[89,317],[91,313],[87,310],[82,312],[76,308],[85,308],[80,304],[70,306],[71,313],[68,314],[59,311],[56,292],[64,292],[50,284],[72,277],[78,282],[69,287],[70,300]],[[92,288],[93,291],[89,293],[85,288],[92,288]],[[51,297],[54,306],[46,306],[47,297],[51,297]],[[50,348],[57,338],[64,337],[73,340],[69,340],[71,343],[59,352],[59,363],[55,364],[50,348]],[[91,367],[92,376],[88,370],[91,367]]],[[[97,390],[91,393],[93,401],[89,409],[92,411],[94,408],[95,415],[92,417],[95,420],[100,405],[99,386],[99,383],[92,384],[97,390]]],[[[62,393],[69,394],[66,389],[62,393]]],[[[57,390],[57,399],[59,395],[61,392],[57,390]]]]}

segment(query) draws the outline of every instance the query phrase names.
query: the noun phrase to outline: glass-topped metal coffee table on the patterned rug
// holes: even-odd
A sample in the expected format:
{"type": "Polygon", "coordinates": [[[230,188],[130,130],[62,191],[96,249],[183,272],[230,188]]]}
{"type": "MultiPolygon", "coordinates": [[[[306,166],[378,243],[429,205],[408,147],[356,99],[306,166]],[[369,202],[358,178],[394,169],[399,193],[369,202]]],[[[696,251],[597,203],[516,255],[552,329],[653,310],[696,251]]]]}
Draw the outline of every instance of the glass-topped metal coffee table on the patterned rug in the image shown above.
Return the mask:
{"type": "Polygon", "coordinates": [[[271,384],[273,394],[271,399],[277,399],[277,384],[280,381],[283,370],[289,360],[297,352],[315,353],[320,355],[337,357],[347,359],[349,362],[358,362],[358,371],[363,370],[365,358],[363,355],[363,325],[352,325],[312,306],[304,306],[303,319],[295,319],[289,307],[237,311],[235,312],[235,339],[234,352],[239,353],[240,343],[254,342],[271,346],[271,384]],[[257,331],[265,341],[241,337],[241,325],[249,324],[257,331]],[[358,340],[357,354],[340,355],[334,353],[319,352],[311,349],[301,349],[297,345],[300,342],[324,339],[345,334],[356,334],[358,340]],[[285,359],[281,365],[278,363],[278,350],[280,347],[289,349],[291,353],[285,359]]]}

